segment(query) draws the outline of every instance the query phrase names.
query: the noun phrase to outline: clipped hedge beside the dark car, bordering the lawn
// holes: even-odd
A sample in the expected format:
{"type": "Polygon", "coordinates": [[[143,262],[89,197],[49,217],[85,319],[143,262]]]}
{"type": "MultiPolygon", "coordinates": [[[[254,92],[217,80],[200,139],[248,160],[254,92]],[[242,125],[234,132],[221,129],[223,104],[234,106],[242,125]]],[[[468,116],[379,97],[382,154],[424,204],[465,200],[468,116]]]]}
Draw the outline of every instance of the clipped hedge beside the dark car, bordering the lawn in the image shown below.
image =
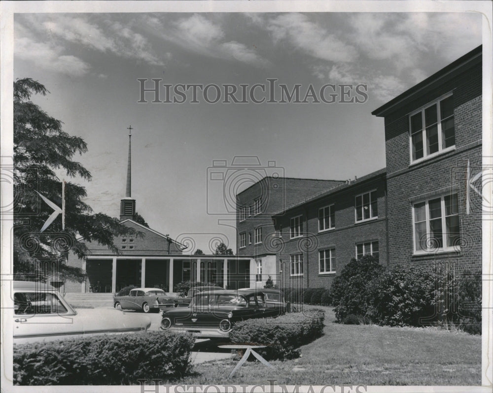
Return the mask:
{"type": "Polygon", "coordinates": [[[324,317],[324,310],[313,309],[275,319],[249,319],[232,327],[230,339],[233,343],[266,345],[255,349],[266,359],[293,359],[299,356],[298,347],[322,335],[324,317]]]}

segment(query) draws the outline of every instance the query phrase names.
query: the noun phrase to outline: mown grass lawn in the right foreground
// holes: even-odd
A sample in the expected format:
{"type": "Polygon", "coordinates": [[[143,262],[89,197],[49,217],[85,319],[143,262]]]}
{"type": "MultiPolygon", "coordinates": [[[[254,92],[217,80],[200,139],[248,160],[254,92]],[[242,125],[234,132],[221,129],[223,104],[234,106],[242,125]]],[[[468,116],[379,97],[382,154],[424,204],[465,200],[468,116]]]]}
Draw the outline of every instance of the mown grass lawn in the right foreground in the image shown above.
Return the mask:
{"type": "Polygon", "coordinates": [[[197,364],[179,384],[269,385],[480,385],[481,336],[436,328],[381,327],[335,323],[330,307],[324,335],[301,347],[302,357],[197,364]]]}

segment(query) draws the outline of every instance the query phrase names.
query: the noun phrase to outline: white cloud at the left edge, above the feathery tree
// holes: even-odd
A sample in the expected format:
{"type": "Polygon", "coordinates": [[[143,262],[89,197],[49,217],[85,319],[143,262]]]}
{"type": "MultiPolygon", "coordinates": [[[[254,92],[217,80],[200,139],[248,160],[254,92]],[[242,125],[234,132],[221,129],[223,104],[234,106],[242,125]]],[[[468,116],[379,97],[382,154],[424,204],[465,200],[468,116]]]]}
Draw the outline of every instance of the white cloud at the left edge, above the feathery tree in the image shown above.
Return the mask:
{"type": "Polygon", "coordinates": [[[52,47],[28,37],[19,38],[15,41],[14,55],[19,59],[69,76],[83,76],[89,72],[91,68],[89,64],[75,56],[62,55],[62,52],[63,48],[61,47],[52,47]]]}

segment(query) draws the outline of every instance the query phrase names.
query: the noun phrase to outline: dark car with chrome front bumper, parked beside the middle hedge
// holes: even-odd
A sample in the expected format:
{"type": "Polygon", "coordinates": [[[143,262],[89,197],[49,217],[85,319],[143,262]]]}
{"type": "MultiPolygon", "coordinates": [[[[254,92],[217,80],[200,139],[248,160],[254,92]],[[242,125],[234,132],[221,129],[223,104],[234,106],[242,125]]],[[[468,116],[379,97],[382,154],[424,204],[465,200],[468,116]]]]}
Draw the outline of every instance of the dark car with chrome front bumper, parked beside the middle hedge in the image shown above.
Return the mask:
{"type": "Polygon", "coordinates": [[[161,310],[160,313],[162,330],[188,331],[200,338],[227,339],[235,322],[276,317],[280,310],[268,307],[262,292],[214,290],[195,295],[189,307],[161,310]]]}

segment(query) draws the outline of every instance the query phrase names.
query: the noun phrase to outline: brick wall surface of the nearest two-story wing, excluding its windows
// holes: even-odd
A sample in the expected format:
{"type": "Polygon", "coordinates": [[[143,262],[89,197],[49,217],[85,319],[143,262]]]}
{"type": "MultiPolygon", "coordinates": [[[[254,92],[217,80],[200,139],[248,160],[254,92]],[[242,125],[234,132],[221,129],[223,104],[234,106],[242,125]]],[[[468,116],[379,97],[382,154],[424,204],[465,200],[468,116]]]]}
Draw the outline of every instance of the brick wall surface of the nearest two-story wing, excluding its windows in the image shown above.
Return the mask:
{"type": "MultiPolygon", "coordinates": [[[[451,262],[459,268],[481,266],[481,197],[470,190],[466,214],[466,169],[481,170],[481,64],[450,78],[385,118],[388,234],[390,263],[451,262]],[[409,113],[453,92],[456,147],[420,164],[410,164],[409,113]],[[460,251],[415,256],[412,204],[438,195],[457,193],[460,251]]],[[[477,185],[481,184],[481,180],[477,185]]]]}

